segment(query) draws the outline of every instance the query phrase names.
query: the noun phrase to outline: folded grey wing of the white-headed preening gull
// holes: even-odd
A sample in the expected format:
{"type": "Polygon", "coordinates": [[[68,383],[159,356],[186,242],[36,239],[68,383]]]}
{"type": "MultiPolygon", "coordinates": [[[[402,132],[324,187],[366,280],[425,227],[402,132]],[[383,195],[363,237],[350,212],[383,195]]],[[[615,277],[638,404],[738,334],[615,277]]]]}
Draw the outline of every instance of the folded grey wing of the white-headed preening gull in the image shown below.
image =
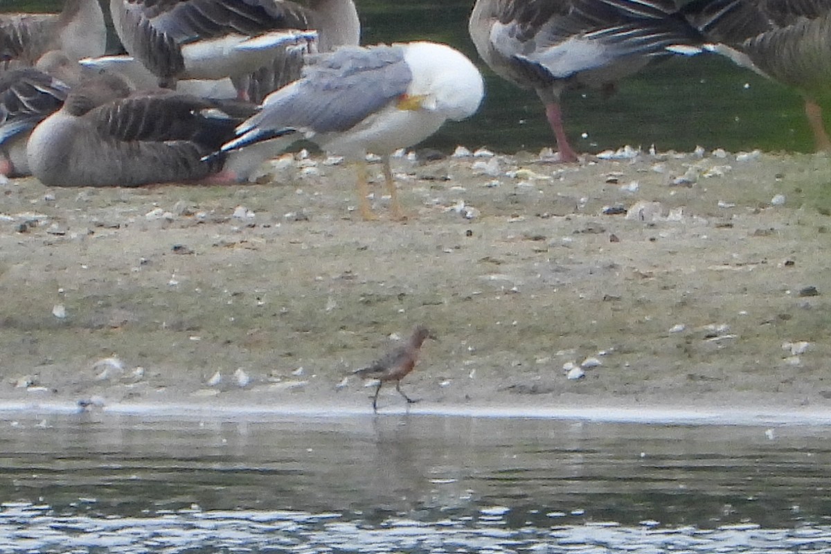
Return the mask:
{"type": "Polygon", "coordinates": [[[404,95],[411,81],[401,47],[342,47],[306,66],[300,81],[269,95],[242,130],[349,130],[404,95]]]}

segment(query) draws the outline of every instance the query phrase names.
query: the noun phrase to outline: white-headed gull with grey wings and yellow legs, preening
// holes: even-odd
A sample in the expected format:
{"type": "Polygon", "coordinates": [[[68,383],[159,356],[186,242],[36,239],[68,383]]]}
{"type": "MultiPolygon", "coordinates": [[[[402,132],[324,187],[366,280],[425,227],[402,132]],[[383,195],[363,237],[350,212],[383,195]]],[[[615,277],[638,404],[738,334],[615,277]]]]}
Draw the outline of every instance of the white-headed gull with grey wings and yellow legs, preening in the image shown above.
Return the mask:
{"type": "Polygon", "coordinates": [[[239,125],[220,153],[271,145],[270,154],[299,139],[358,163],[361,216],[375,219],[367,199],[366,154],[381,154],[393,218],[405,218],[389,154],[415,145],[447,120],[479,109],[484,82],[460,51],[436,42],[341,47],[318,54],[302,78],[268,95],[258,114],[239,125]]]}

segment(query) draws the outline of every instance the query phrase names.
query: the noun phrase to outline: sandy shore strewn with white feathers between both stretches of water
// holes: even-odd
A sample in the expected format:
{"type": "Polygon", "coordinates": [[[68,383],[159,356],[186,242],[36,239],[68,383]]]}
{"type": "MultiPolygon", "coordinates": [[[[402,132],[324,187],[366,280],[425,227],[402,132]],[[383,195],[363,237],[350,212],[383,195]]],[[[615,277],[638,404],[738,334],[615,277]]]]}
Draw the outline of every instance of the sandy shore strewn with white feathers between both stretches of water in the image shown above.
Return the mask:
{"type": "Polygon", "coordinates": [[[396,159],[406,223],[333,161],[2,185],[0,402],[370,409],[352,370],[424,324],[424,406],[831,407],[827,157],[396,159]]]}

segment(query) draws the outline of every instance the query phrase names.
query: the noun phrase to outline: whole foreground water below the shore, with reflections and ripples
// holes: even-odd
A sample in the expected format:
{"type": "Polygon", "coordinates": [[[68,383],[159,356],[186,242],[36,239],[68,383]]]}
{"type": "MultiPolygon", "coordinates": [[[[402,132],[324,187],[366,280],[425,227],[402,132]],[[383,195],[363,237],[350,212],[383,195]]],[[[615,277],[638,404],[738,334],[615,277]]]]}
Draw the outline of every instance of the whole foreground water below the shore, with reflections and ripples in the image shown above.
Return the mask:
{"type": "Polygon", "coordinates": [[[0,427],[0,552],[829,552],[829,430],[437,416],[0,427]]]}

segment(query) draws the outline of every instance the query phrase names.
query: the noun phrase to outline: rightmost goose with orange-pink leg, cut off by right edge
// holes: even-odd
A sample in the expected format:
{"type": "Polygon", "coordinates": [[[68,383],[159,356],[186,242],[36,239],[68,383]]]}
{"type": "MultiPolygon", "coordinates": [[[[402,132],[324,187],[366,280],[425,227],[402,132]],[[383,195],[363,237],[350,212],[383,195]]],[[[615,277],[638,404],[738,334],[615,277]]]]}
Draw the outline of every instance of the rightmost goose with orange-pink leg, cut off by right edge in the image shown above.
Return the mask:
{"type": "Polygon", "coordinates": [[[831,90],[831,0],[696,0],[685,9],[713,50],[799,91],[817,150],[831,152],[819,105],[831,90]]]}

